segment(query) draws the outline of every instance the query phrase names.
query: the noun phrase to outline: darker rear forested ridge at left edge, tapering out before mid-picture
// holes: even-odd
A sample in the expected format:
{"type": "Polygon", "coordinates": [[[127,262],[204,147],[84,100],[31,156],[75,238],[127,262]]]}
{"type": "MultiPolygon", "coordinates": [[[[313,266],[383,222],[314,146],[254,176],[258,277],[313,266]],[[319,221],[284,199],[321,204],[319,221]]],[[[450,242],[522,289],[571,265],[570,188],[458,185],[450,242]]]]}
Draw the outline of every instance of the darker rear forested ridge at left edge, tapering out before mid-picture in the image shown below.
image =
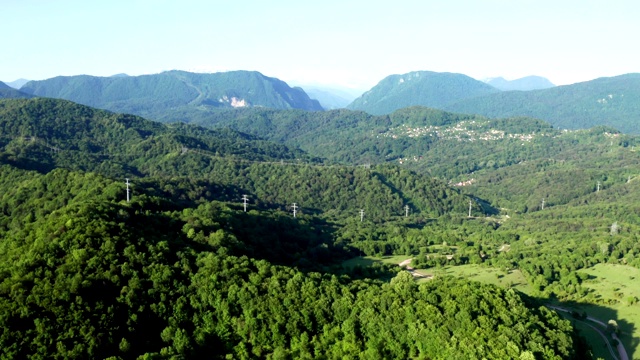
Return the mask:
{"type": "Polygon", "coordinates": [[[0,129],[5,151],[36,161],[42,171],[93,171],[100,165],[105,174],[133,175],[149,158],[166,160],[189,149],[251,161],[308,159],[299,150],[229,129],[163,125],[48,98],[0,101],[0,129]]]}

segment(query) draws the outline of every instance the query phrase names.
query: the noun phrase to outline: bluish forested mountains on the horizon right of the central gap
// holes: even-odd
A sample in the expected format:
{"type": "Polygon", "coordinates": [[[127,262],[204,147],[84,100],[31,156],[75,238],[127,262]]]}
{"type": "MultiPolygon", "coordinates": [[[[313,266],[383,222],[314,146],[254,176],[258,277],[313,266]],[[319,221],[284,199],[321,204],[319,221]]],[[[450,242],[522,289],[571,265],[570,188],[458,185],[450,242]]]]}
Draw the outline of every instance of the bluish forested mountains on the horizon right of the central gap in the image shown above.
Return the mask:
{"type": "MultiPolygon", "coordinates": [[[[513,82],[504,79],[492,82],[503,88],[553,86],[545,80],[528,77],[513,82]]],[[[640,133],[640,74],[540,90],[501,91],[462,74],[411,72],[383,79],[347,108],[382,115],[408,106],[493,118],[528,116],[565,129],[604,125],[637,134],[640,133]]]]}

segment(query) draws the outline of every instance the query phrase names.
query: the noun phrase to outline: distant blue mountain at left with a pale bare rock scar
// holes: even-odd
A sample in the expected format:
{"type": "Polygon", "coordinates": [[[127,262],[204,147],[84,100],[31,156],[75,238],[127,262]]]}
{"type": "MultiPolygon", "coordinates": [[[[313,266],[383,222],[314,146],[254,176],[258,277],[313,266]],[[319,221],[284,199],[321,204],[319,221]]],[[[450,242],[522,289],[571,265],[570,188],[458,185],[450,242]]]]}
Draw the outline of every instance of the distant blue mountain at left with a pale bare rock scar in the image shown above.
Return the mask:
{"type": "Polygon", "coordinates": [[[304,90],[256,71],[196,74],[174,70],[124,77],[59,76],[30,81],[21,91],[152,119],[161,118],[169,110],[208,112],[256,106],[322,110],[304,90]]]}

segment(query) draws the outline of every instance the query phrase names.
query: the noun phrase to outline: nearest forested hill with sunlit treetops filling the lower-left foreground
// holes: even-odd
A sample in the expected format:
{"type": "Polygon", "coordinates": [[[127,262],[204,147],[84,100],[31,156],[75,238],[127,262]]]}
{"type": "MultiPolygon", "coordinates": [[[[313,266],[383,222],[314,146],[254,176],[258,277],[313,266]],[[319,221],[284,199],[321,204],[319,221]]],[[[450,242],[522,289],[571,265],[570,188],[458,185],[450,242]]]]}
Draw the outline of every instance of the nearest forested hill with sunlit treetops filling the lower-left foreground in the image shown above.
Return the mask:
{"type": "MultiPolygon", "coordinates": [[[[447,278],[417,285],[408,273],[354,281],[272,265],[236,245],[243,227],[265,249],[275,245],[255,215],[215,203],[171,211],[99,193],[83,201],[86,193],[66,190],[78,181],[114,184],[46,176],[50,201],[64,196],[56,189],[77,195],[4,233],[3,357],[578,357],[569,322],[527,308],[512,290],[447,278]]],[[[3,207],[17,195],[11,188],[3,188],[3,207]]],[[[269,216],[279,237],[304,239],[302,223],[277,214],[260,221],[269,216]]]]}

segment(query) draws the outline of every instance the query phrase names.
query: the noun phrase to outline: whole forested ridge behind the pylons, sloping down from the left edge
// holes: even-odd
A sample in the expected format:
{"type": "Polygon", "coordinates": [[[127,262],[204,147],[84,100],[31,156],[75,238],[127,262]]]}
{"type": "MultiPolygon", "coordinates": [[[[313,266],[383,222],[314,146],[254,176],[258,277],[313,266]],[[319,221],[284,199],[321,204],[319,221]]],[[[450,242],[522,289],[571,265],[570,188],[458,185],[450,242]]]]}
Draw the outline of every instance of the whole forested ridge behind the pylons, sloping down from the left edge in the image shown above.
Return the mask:
{"type": "MultiPolygon", "coordinates": [[[[382,166],[325,166],[300,150],[229,129],[207,130],[96,110],[65,100],[0,101],[5,161],[48,172],[57,167],[111,177],[189,176],[239,196],[311,212],[367,208],[397,216],[409,205],[423,216],[463,213],[466,197],[444,182],[382,166]]],[[[228,193],[227,193],[228,192],[228,193]]],[[[215,198],[215,197],[214,197],[215,198]]]]}

